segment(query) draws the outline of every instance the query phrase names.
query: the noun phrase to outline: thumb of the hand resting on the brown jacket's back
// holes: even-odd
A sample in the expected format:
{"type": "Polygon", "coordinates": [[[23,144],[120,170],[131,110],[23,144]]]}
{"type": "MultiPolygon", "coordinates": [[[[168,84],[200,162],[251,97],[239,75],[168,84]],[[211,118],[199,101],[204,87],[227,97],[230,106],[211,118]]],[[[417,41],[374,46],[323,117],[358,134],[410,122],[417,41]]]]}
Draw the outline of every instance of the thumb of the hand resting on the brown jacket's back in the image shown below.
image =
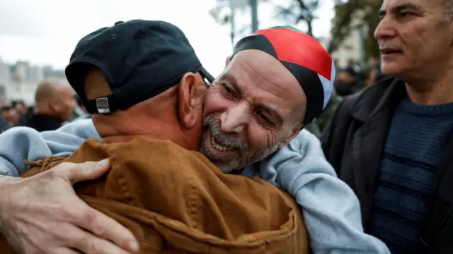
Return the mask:
{"type": "Polygon", "coordinates": [[[79,181],[94,180],[103,176],[110,169],[110,160],[99,162],[69,163],[64,162],[52,169],[62,179],[74,184],[79,181]]]}

